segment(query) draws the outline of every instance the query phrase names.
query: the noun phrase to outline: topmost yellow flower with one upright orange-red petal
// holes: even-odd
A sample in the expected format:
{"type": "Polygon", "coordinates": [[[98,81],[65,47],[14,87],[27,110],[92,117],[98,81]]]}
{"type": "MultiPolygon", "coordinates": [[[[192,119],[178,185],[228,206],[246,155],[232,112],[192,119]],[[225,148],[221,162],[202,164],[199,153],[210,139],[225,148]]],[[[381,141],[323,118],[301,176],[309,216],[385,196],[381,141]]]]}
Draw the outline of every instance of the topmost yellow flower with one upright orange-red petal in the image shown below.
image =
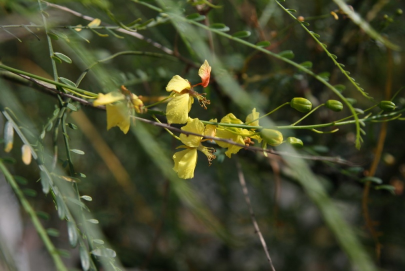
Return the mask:
{"type": "MultiPolygon", "coordinates": [[[[206,87],[209,82],[210,71],[211,67],[205,60],[198,70],[198,75],[201,77],[202,82],[196,85],[201,84],[203,87],[206,87]]],[[[167,83],[166,91],[174,92],[172,99],[167,103],[166,107],[168,124],[182,124],[187,122],[188,112],[191,109],[191,104],[194,102],[193,97],[196,97],[204,108],[206,108],[205,104],[209,104],[209,100],[203,96],[205,93],[199,94],[195,92],[192,88],[193,86],[191,86],[187,79],[179,75],[174,75],[167,83]]]]}

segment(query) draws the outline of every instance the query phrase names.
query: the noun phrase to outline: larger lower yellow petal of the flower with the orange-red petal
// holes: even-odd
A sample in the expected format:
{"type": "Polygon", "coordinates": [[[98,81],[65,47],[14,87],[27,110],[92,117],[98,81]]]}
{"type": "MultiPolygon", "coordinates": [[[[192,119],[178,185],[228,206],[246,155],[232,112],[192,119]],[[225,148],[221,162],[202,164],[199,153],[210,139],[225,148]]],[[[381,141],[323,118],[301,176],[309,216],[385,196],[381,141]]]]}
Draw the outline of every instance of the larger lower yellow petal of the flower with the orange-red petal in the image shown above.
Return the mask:
{"type": "Polygon", "coordinates": [[[191,103],[193,102],[193,98],[188,95],[188,93],[174,94],[173,98],[166,106],[167,123],[182,124],[187,122],[188,112],[190,111],[191,103]]]}

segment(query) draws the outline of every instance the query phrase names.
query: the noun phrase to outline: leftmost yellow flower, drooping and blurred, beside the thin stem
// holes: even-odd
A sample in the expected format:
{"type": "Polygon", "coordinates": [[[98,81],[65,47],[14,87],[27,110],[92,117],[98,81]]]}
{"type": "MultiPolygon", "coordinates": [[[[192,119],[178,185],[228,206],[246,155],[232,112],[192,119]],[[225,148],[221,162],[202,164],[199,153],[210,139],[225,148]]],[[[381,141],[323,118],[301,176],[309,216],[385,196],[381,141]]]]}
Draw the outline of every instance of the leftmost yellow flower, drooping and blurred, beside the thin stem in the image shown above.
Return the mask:
{"type": "Polygon", "coordinates": [[[107,111],[107,130],[118,126],[123,133],[127,133],[130,126],[130,114],[133,109],[137,113],[143,112],[143,102],[124,86],[120,92],[98,93],[93,105],[105,105],[107,111]],[[126,102],[125,102],[126,100],[126,102]]]}

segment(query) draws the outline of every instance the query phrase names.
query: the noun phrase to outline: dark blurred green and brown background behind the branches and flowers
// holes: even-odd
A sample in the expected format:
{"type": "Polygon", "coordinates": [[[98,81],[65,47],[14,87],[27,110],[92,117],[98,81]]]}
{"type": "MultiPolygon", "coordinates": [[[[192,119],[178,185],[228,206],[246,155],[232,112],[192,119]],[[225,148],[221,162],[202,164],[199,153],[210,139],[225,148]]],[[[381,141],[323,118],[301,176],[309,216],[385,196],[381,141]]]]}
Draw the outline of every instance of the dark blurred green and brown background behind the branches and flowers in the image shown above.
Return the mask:
{"type": "MultiPolygon", "coordinates": [[[[40,1],[44,9],[41,13],[36,1],[0,0],[0,61],[41,77],[53,78],[43,15],[51,29],[53,51],[71,59],[71,63],[56,63],[59,77],[75,82],[97,60],[123,51],[139,52],[122,54],[94,65],[80,82],[82,89],[105,93],[125,85],[133,93],[144,96],[145,104],[149,104],[167,95],[165,86],[175,74],[192,83],[199,82],[197,71],[203,59],[196,56],[193,44],[185,42],[183,33],[176,28],[178,25],[173,25],[164,14],[136,2],[81,0],[49,4],[40,1]],[[101,20],[99,28],[74,30],[74,26],[85,26],[94,18],[101,20]],[[129,25],[138,18],[140,20],[133,24],[137,25],[137,31],[124,30],[118,23],[129,25]],[[156,55],[143,55],[142,52],[156,55]]],[[[144,2],[159,6],[154,1],[144,2]]],[[[223,23],[229,27],[229,33],[249,31],[250,36],[244,40],[250,43],[270,41],[266,48],[272,52],[292,50],[294,62],[311,61],[314,73],[327,72],[323,75],[328,77],[329,83],[346,86],[342,93],[351,98],[355,107],[366,109],[380,100],[390,99],[405,83],[403,51],[388,49],[370,38],[339,12],[332,0],[288,0],[283,5],[297,10],[294,14],[310,23],[308,29],[320,35],[321,42],[327,44],[328,50],[338,57],[350,71],[350,76],[374,97],[374,101],[362,96],[348,82],[320,45],[275,1],[177,1],[177,4],[184,15],[204,15],[205,18],[199,21],[203,24],[223,23]]],[[[384,38],[404,47],[403,1],[355,0],[348,4],[384,38]]],[[[327,99],[337,99],[318,80],[285,62],[205,29],[193,29],[258,108],[270,111],[293,97],[305,97],[313,106],[327,99]]],[[[1,72],[1,106],[10,108],[20,121],[19,125],[32,134],[31,138],[39,138],[47,123],[54,123],[54,110],[59,107],[57,97],[26,82],[16,82],[9,73],[1,72]]],[[[245,119],[245,110],[237,106],[215,76],[212,75],[207,88],[196,87],[195,90],[206,92],[211,103],[207,110],[195,103],[190,111],[192,117],[219,120],[232,112],[245,119]]],[[[393,101],[401,109],[405,103],[403,92],[399,92],[393,101]]],[[[74,124],[77,129],[67,130],[69,144],[70,148],[84,152],[83,155],[71,153],[75,172],[83,174],[77,187],[80,195],[92,197],[92,201],[85,204],[92,217],[99,221],[97,225],[105,240],[116,251],[117,261],[125,269],[269,269],[244,200],[235,169],[237,163],[241,165],[257,223],[277,271],[352,269],[319,208],[288,174],[281,156],[264,157],[261,152],[241,149],[229,159],[225,157],[224,149],[208,143],[216,148],[217,158],[212,165],[208,167],[205,156],[199,153],[195,177],[173,182],[162,169],[171,170],[172,164],[167,165],[165,159],[158,157],[169,157],[171,162],[171,155],[179,144],[165,130],[136,121],[127,134],[117,127],[107,131],[103,110],[72,103],[78,110],[67,110],[66,123],[74,124]]],[[[164,111],[165,104],[152,109],[164,111]]],[[[378,110],[371,111],[377,113],[378,110]]],[[[327,123],[349,114],[347,108],[341,112],[320,108],[302,121],[302,125],[327,123]]],[[[139,116],[152,119],[148,114],[139,116]]],[[[277,125],[288,125],[301,116],[292,108],[283,107],[273,113],[271,119],[277,125]]],[[[158,118],[165,122],[164,116],[158,118]]],[[[2,142],[5,122],[0,117],[2,142]]],[[[283,134],[285,138],[295,136],[303,141],[304,147],[298,150],[300,154],[340,157],[356,165],[306,160],[374,263],[381,270],[403,270],[405,149],[402,136],[405,130],[400,120],[383,125],[381,122],[366,123],[363,127],[366,135],[360,149],[354,145],[352,124],[339,126],[339,130],[331,134],[309,130],[283,130],[283,134]],[[383,149],[378,150],[381,129],[386,131],[386,138],[383,149]],[[359,179],[368,174],[376,151],[381,159],[375,176],[394,189],[392,193],[372,187],[369,191],[373,236],[362,215],[364,183],[359,179]],[[376,244],[381,245],[379,255],[375,252],[376,244]]],[[[41,141],[50,153],[54,144],[52,129],[46,130],[41,141]]],[[[56,140],[58,164],[68,175],[61,134],[59,130],[56,140]]],[[[40,177],[38,165],[35,162],[25,165],[21,161],[21,145],[21,140],[14,134],[13,149],[6,153],[1,147],[0,157],[14,159],[7,168],[27,180],[21,187],[35,191],[36,195],[27,198],[36,211],[48,214],[45,215],[47,219],[41,218],[44,227],[59,231],[51,240],[57,248],[68,252],[64,263],[69,268],[80,269],[78,249],[69,245],[66,221],[59,219],[52,196],[42,192],[37,181],[40,177]]],[[[259,146],[257,142],[255,146],[259,146]]],[[[3,175],[0,175],[0,194],[0,269],[54,269],[30,217],[21,209],[3,175]]]]}

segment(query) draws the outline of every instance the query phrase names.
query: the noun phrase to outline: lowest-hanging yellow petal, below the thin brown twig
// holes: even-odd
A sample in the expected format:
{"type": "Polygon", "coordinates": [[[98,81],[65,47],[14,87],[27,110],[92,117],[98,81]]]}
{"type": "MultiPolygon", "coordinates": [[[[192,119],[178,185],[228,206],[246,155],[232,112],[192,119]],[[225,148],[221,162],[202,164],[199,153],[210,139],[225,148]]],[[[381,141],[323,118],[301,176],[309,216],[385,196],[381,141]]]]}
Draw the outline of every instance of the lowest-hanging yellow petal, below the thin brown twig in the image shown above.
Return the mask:
{"type": "Polygon", "coordinates": [[[174,167],[178,177],[190,179],[194,177],[194,169],[197,164],[197,149],[187,148],[173,154],[174,167]]]}

